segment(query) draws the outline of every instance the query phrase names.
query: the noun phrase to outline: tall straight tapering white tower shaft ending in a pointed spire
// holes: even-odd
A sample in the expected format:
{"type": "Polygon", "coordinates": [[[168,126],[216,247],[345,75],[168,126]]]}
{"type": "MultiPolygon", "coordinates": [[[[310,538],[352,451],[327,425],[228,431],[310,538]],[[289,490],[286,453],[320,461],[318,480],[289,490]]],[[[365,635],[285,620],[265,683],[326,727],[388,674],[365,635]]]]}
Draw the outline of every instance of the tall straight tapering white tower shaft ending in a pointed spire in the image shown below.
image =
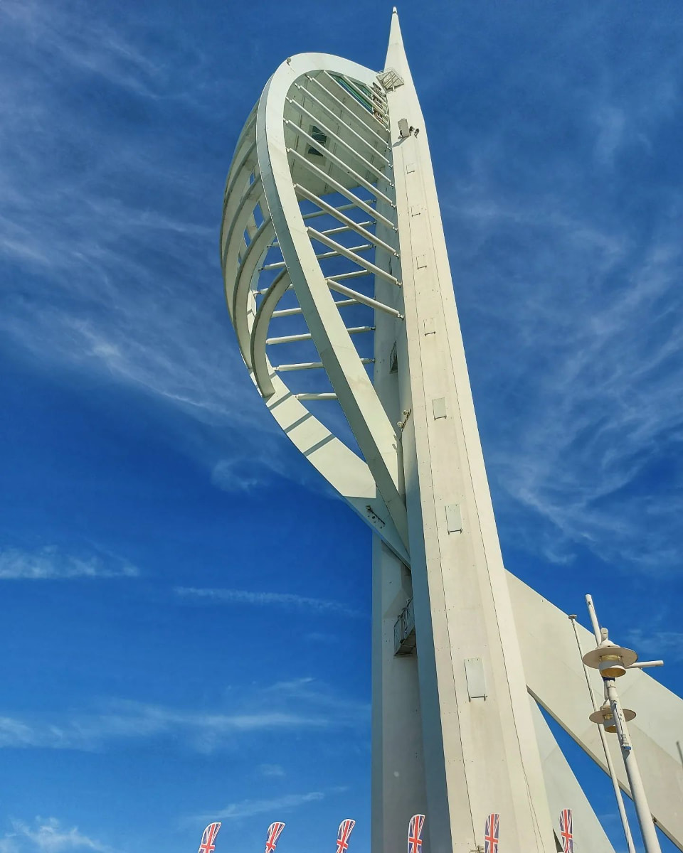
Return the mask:
{"type": "Polygon", "coordinates": [[[386,67],[403,80],[387,96],[392,130],[399,119],[418,129],[394,142],[393,155],[406,316],[396,324],[399,394],[409,413],[401,447],[430,849],[469,853],[486,815],[499,812],[508,850],[548,851],[552,824],[428,138],[395,14],[386,67]]]}

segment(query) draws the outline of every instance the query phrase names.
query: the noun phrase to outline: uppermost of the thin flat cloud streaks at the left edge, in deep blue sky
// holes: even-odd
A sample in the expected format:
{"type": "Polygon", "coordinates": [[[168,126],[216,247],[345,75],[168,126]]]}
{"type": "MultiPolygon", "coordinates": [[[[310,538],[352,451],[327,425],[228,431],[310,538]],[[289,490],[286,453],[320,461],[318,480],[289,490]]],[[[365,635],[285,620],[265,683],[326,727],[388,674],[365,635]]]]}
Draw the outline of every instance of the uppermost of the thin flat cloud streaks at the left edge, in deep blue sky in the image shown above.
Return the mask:
{"type": "Polygon", "coordinates": [[[137,566],[113,554],[78,556],[56,546],[35,551],[0,548],[0,580],[57,580],[73,577],[137,577],[137,566]]]}

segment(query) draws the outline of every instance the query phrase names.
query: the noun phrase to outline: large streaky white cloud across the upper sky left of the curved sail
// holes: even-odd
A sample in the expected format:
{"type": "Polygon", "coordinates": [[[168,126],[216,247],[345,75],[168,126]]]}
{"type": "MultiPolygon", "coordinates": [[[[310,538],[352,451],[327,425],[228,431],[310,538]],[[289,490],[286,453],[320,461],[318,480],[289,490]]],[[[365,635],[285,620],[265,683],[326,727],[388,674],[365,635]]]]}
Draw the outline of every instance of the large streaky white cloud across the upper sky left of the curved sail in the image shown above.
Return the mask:
{"type": "MultiPolygon", "coordinates": [[[[144,32],[78,6],[10,0],[0,16],[0,261],[32,276],[26,289],[13,277],[0,328],[53,370],[107,374],[200,421],[267,432],[221,293],[223,177],[144,137],[164,101],[213,78],[207,58],[184,44],[169,61],[144,32]],[[20,72],[17,50],[33,57],[20,72]],[[67,96],[102,81],[139,116],[127,136],[110,136],[120,128],[98,98],[67,96]],[[213,206],[192,202],[200,186],[213,206]]],[[[197,127],[213,121],[210,99],[209,86],[184,102],[197,127]]]]}

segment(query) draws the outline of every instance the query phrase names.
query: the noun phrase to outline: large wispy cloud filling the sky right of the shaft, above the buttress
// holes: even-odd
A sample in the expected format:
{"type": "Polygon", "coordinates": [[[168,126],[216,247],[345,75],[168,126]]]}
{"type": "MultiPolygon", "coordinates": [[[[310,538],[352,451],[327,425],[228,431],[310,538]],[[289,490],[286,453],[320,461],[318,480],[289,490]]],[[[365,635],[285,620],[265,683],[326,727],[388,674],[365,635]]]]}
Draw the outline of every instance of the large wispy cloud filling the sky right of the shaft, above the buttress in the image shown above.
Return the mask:
{"type": "Polygon", "coordinates": [[[435,162],[461,157],[437,177],[504,547],[558,564],[586,548],[671,574],[683,207],[670,151],[683,50],[671,33],[660,62],[669,34],[651,20],[638,49],[606,61],[613,44],[585,45],[606,32],[607,9],[563,20],[506,68],[485,132],[475,93],[440,114],[435,162]]]}

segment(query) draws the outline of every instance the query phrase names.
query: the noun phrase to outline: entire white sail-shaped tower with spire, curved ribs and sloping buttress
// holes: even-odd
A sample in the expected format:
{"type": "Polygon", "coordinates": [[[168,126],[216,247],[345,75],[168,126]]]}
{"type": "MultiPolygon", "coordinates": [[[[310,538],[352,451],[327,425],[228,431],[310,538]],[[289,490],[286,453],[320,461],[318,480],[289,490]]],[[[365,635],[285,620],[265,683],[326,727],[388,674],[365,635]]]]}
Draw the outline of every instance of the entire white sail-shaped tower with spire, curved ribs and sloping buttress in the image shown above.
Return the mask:
{"type": "MultiPolygon", "coordinates": [[[[258,392],[376,534],[373,853],[417,812],[432,853],[477,850],[493,812],[505,851],[550,853],[568,807],[577,850],[609,853],[539,710],[604,767],[569,620],[503,566],[395,10],[379,72],[324,54],[277,68],[237,142],[220,254],[258,392]]],[[[628,679],[654,817],[680,846],[683,702],[628,679]]]]}

